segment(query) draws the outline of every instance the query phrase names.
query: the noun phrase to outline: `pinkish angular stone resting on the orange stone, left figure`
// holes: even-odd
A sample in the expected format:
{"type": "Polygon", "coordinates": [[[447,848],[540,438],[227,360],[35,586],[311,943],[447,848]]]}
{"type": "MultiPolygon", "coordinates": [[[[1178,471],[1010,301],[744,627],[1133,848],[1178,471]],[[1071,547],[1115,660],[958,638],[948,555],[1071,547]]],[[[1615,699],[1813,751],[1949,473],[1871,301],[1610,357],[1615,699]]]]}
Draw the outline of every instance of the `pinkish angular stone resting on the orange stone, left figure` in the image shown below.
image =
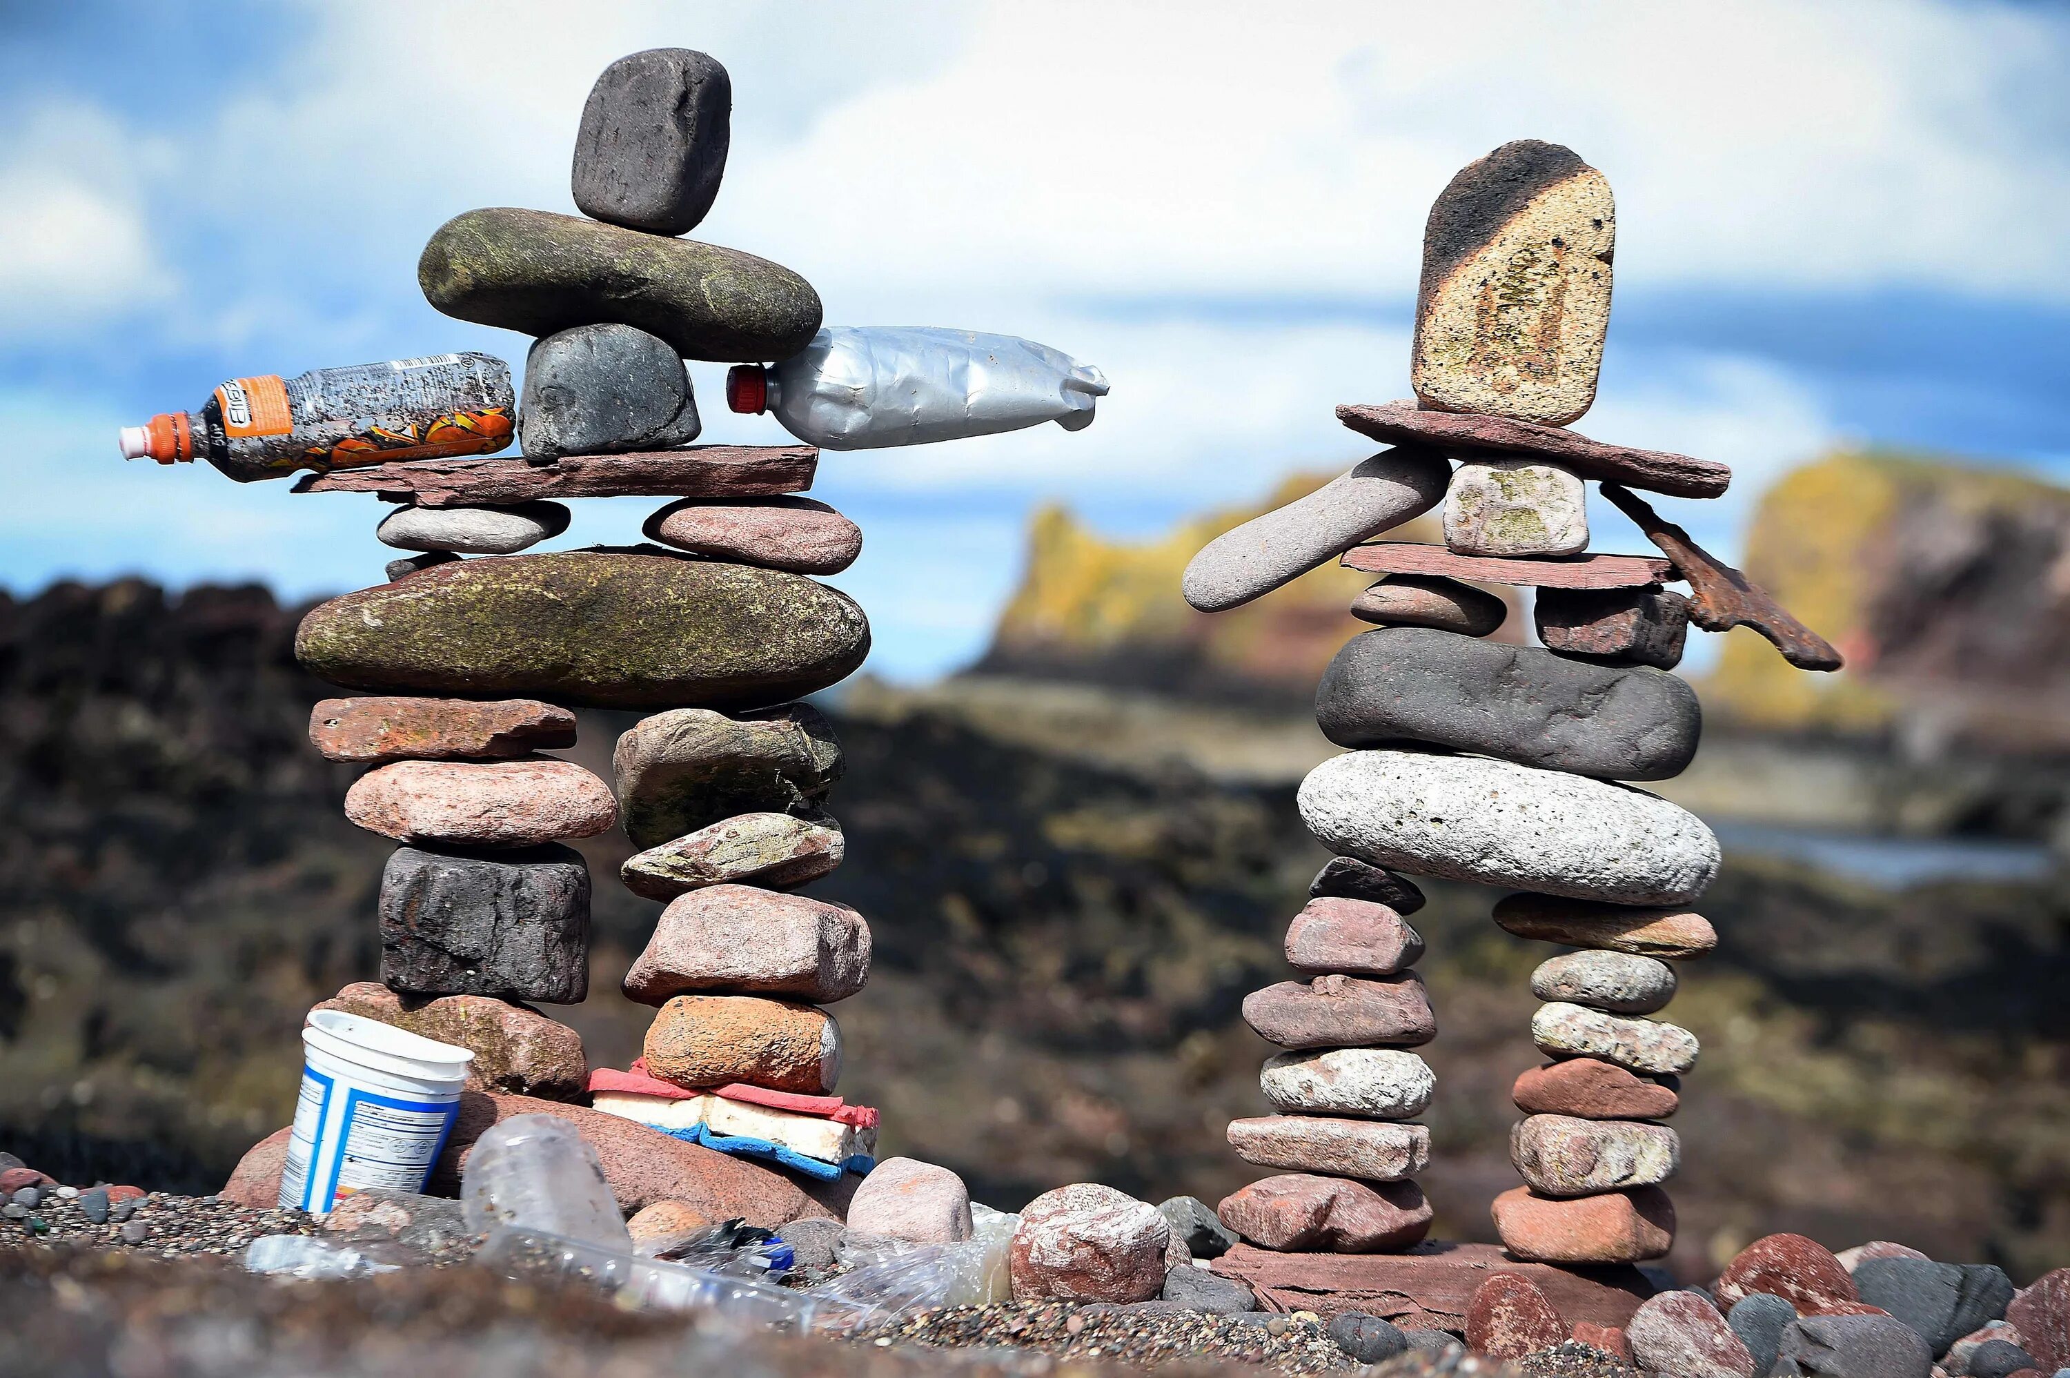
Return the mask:
{"type": "Polygon", "coordinates": [[[869,925],[847,904],[753,886],[710,886],[669,902],[625,972],[625,997],[685,991],[832,1003],[869,981],[869,925]]]}

